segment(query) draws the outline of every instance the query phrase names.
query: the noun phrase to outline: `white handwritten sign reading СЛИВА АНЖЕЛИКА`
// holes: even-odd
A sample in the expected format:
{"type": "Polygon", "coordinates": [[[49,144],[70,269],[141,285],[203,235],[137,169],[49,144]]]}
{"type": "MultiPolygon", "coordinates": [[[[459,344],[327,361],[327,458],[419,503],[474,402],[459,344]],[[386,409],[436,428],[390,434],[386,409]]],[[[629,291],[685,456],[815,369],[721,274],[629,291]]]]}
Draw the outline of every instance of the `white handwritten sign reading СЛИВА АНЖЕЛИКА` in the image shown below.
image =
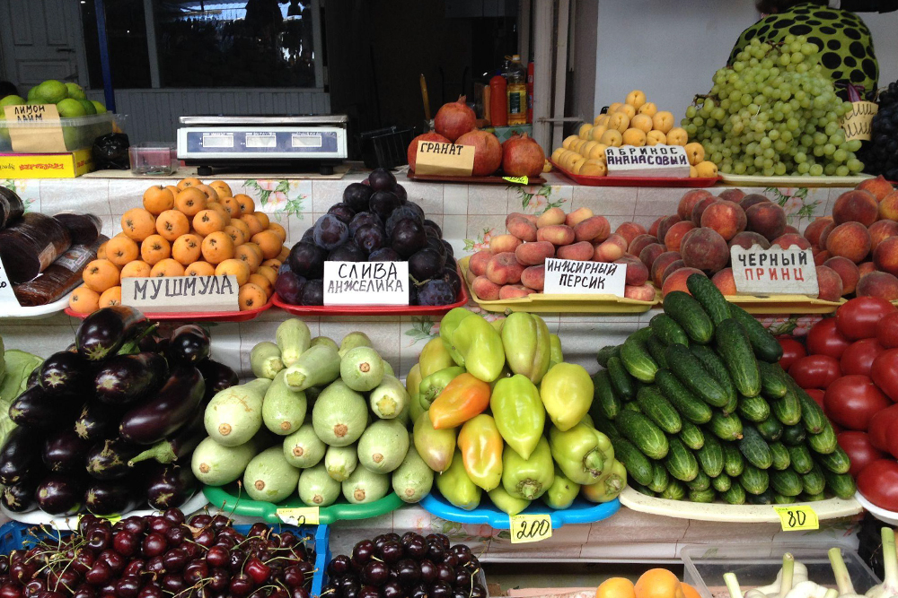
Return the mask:
{"type": "Polygon", "coordinates": [[[325,262],[324,305],[409,305],[409,263],[325,262]]]}

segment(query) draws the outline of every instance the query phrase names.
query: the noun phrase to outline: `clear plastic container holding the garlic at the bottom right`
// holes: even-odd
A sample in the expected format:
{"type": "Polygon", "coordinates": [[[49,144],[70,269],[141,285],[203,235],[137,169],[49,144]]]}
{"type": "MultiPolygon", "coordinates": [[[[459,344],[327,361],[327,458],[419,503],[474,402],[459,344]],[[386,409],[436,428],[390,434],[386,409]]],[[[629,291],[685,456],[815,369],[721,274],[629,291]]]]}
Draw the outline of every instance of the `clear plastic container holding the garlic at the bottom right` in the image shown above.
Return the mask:
{"type": "MultiPolygon", "coordinates": [[[[734,538],[738,542],[738,538],[734,538]]],[[[813,544],[769,543],[732,545],[691,545],[680,551],[683,581],[692,585],[703,598],[727,598],[724,574],[732,571],[743,592],[772,584],[782,568],[783,554],[791,552],[807,567],[808,578],[820,585],[835,587],[832,567],[826,551],[833,546],[842,550],[855,592],[864,594],[879,579],[850,547],[837,542],[813,544]]]]}

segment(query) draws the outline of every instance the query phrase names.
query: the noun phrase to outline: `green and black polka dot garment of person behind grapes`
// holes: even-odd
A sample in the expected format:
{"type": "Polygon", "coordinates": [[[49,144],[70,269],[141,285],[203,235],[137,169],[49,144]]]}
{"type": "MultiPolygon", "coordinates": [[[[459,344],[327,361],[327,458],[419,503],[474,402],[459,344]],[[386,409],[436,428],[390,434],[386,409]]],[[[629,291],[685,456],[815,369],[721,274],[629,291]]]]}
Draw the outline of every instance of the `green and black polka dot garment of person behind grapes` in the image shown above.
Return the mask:
{"type": "MultiPolygon", "coordinates": [[[[868,98],[874,97],[879,65],[870,30],[857,14],[840,9],[797,4],[785,13],[771,14],[742,32],[727,64],[732,64],[735,56],[754,38],[777,43],[787,35],[804,35],[821,48],[820,63],[833,81],[862,86],[868,98]]],[[[839,94],[848,99],[843,88],[839,94]]]]}

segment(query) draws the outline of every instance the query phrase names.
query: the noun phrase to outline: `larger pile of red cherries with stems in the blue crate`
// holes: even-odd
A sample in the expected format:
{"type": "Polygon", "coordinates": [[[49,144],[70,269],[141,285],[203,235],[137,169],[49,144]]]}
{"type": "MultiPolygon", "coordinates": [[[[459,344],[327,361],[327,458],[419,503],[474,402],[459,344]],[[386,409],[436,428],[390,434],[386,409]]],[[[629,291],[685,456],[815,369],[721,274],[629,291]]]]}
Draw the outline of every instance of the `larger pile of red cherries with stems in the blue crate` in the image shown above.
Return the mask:
{"type": "Polygon", "coordinates": [[[66,537],[0,556],[3,598],[309,598],[313,551],[266,524],[176,508],[116,524],[84,515],[66,537]]]}

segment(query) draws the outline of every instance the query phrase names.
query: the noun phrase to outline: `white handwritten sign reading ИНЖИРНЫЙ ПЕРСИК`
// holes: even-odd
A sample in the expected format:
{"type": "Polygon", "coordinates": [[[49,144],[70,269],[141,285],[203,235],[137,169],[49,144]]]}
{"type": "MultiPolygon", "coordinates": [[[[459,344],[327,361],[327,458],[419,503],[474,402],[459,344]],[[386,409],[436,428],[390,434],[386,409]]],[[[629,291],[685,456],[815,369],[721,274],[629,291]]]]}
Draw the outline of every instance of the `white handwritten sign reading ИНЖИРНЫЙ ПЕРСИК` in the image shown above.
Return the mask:
{"type": "Polygon", "coordinates": [[[546,260],[543,294],[616,295],[623,297],[627,264],[578,262],[551,257],[546,260]]]}

